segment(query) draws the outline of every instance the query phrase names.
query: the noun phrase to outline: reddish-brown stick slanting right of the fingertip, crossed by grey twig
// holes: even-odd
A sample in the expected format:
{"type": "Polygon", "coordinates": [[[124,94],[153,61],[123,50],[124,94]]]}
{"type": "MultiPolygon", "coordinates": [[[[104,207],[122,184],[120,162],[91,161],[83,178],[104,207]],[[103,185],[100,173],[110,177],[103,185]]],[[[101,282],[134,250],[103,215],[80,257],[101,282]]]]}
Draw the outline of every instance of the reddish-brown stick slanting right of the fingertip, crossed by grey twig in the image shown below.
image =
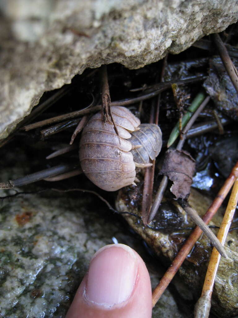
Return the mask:
{"type": "MultiPolygon", "coordinates": [[[[227,196],[228,192],[230,191],[237,177],[238,177],[238,161],[233,167],[225,183],[221,187],[221,190],[218,192],[217,196],[215,197],[213,203],[208,208],[208,211],[203,216],[202,219],[206,224],[209,223],[209,221],[215,215],[216,211],[220,208],[223,200],[227,196]]],[[[172,264],[170,265],[170,267],[168,268],[168,270],[166,271],[166,273],[160,280],[159,284],[155,287],[153,291],[153,294],[152,294],[153,307],[155,306],[156,302],[159,300],[159,298],[161,297],[165,289],[168,287],[170,281],[173,279],[174,275],[177,273],[184,259],[186,259],[188,253],[190,252],[193,245],[196,243],[197,239],[200,237],[201,234],[202,234],[202,230],[198,226],[196,226],[195,230],[190,234],[186,243],[182,246],[180,251],[177,253],[172,264]]]]}

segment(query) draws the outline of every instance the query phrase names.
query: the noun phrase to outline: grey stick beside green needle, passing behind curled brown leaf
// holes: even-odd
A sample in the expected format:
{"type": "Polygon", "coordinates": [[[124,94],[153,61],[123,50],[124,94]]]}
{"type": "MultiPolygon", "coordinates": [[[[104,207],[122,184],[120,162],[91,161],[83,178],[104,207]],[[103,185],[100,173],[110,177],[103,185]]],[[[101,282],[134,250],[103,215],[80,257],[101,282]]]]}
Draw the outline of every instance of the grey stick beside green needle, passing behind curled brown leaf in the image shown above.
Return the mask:
{"type": "MultiPolygon", "coordinates": [[[[184,127],[184,129],[182,131],[182,133],[183,133],[182,139],[179,141],[179,143],[176,147],[177,150],[182,149],[183,144],[184,144],[185,139],[186,139],[186,134],[187,134],[188,129],[191,128],[191,126],[195,122],[196,118],[201,113],[202,109],[207,105],[209,100],[210,100],[209,96],[205,98],[205,100],[202,102],[202,104],[198,107],[198,109],[195,111],[193,116],[190,118],[187,125],[184,127]]],[[[163,176],[162,181],[161,181],[160,186],[159,186],[159,189],[155,195],[154,203],[153,203],[151,210],[149,212],[148,221],[147,221],[148,223],[153,221],[153,218],[155,217],[155,214],[157,213],[157,210],[161,204],[164,192],[165,192],[166,187],[168,185],[168,181],[169,181],[169,178],[167,176],[163,176]]]]}

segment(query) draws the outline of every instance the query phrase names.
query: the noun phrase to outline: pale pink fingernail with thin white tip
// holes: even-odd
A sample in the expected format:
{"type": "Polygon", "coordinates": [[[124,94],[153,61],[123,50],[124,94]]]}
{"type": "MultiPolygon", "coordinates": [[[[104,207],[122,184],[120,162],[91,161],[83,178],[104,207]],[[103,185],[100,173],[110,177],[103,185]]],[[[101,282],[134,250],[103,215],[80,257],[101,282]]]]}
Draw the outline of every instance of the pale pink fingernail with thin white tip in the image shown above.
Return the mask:
{"type": "Polygon", "coordinates": [[[91,260],[86,298],[103,307],[127,300],[135,286],[137,262],[135,253],[127,245],[103,247],[91,260]]]}

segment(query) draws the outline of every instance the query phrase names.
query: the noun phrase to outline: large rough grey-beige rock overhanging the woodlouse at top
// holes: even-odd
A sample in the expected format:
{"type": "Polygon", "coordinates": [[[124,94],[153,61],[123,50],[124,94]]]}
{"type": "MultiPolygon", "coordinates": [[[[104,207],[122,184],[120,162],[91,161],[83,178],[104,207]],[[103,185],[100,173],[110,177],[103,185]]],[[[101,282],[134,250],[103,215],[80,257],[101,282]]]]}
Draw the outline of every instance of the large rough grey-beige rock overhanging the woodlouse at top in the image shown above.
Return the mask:
{"type": "Polygon", "coordinates": [[[143,67],[238,20],[236,0],[3,0],[0,9],[0,138],[87,67],[143,67]]]}

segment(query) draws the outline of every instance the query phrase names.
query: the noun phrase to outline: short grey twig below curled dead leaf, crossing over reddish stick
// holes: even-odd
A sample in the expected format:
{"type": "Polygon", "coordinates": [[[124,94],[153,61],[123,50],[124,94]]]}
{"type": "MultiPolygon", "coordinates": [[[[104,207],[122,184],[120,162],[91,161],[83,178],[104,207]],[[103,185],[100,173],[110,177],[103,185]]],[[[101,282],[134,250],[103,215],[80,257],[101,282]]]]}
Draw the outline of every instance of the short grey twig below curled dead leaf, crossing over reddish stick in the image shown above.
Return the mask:
{"type": "Polygon", "coordinates": [[[215,246],[215,248],[221,254],[221,256],[223,256],[224,258],[227,258],[227,254],[224,250],[224,247],[221,245],[220,241],[217,239],[215,234],[209,229],[206,223],[202,221],[202,219],[197,214],[197,212],[191,206],[189,206],[189,204],[182,205],[182,208],[186,211],[186,213],[190,216],[190,218],[195,222],[195,224],[200,227],[202,232],[204,232],[207,235],[210,243],[213,246],[215,246]]]}

